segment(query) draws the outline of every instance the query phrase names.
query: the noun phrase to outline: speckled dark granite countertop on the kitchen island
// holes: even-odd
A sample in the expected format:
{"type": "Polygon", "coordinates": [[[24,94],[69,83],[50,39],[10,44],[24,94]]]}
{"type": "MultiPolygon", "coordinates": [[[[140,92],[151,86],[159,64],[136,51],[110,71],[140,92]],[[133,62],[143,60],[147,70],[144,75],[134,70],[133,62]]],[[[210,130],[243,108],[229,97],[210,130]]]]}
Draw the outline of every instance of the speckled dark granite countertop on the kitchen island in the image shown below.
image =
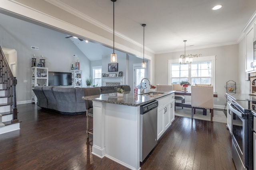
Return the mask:
{"type": "Polygon", "coordinates": [[[131,91],[124,92],[124,96],[122,97],[118,97],[117,93],[108,93],[108,94],[101,94],[101,95],[95,95],[95,96],[84,96],[82,97],[82,99],[136,107],[136,106],[141,106],[149,102],[152,102],[154,100],[160,99],[164,96],[168,96],[169,94],[172,94],[175,92],[176,91],[169,91],[169,92],[162,92],[163,94],[159,94],[156,96],[145,96],[140,94],[134,95],[134,91],[131,90],[131,91]]]}

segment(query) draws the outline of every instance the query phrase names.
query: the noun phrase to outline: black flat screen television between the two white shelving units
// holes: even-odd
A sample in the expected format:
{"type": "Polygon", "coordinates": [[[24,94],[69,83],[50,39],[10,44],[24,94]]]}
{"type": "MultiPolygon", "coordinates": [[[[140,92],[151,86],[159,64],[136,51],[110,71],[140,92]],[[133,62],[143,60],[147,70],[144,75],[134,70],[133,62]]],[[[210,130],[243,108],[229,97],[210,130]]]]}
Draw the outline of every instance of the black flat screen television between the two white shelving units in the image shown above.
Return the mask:
{"type": "Polygon", "coordinates": [[[71,72],[48,72],[49,86],[71,86],[72,73],[71,72]]]}

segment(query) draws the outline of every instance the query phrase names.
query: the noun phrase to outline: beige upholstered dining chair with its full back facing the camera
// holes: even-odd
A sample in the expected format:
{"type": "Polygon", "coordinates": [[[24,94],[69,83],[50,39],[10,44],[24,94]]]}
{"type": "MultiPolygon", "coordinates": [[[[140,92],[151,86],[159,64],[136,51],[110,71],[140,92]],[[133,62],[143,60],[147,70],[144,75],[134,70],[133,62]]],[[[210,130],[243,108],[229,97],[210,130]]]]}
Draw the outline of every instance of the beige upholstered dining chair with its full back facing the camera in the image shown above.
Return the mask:
{"type": "Polygon", "coordinates": [[[213,86],[191,86],[191,118],[196,107],[210,109],[211,122],[213,117],[213,86]]]}

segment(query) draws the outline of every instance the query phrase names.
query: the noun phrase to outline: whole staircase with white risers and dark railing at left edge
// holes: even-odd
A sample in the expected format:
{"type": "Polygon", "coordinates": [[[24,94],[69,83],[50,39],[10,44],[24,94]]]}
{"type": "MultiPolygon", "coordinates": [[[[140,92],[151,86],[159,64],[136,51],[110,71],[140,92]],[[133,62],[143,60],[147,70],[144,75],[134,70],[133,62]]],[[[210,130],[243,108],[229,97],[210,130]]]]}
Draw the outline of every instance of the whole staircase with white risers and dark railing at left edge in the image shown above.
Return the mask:
{"type": "Polygon", "coordinates": [[[20,129],[16,107],[16,84],[17,79],[12,75],[0,47],[0,134],[20,129]]]}

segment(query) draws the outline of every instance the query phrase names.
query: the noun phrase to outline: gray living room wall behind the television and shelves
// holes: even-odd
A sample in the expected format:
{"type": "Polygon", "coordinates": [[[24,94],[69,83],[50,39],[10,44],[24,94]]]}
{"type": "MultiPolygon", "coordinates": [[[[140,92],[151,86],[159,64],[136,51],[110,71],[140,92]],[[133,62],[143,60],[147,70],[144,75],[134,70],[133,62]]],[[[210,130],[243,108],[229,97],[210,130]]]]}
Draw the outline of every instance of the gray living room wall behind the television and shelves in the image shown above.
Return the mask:
{"type": "Polygon", "coordinates": [[[18,104],[31,101],[30,68],[33,54],[36,55],[37,62],[41,55],[44,55],[48,70],[58,72],[69,72],[72,61],[76,61],[72,55],[77,54],[80,70],[83,70],[83,80],[85,80],[85,76],[90,75],[90,61],[70,39],[65,38],[65,34],[4,14],[0,14],[0,20],[1,47],[17,51],[18,104]],[[30,48],[31,46],[39,47],[39,50],[33,50],[30,48]],[[23,80],[28,80],[28,83],[24,83],[23,80]]]}

